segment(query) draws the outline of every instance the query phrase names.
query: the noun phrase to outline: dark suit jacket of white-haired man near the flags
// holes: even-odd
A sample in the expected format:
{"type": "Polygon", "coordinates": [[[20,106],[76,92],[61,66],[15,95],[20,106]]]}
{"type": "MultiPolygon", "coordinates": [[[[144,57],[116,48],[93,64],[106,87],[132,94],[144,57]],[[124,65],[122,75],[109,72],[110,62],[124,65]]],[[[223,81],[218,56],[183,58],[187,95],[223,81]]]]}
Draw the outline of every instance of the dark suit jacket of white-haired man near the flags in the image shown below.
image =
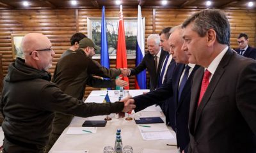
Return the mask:
{"type": "Polygon", "coordinates": [[[159,63],[157,66],[157,71],[155,69],[155,62],[154,62],[154,55],[151,55],[149,52],[144,56],[143,60],[141,63],[136,67],[131,69],[131,74],[130,75],[138,75],[141,71],[147,68],[148,74],[149,74],[149,79],[150,79],[150,91],[153,91],[156,89],[157,84],[158,84],[158,78],[159,78],[159,73],[161,71],[162,65],[164,58],[168,52],[165,52],[163,49],[161,50],[161,55],[159,58],[159,63]]]}

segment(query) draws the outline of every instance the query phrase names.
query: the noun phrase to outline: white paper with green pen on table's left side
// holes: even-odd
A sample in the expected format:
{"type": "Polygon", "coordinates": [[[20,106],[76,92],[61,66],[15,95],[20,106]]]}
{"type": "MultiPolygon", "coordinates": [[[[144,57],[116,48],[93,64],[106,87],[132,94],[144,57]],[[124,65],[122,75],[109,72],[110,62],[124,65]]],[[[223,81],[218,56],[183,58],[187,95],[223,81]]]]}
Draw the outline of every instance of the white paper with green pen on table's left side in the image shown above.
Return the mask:
{"type": "Polygon", "coordinates": [[[70,127],[67,135],[92,134],[97,132],[97,127],[70,127]]]}

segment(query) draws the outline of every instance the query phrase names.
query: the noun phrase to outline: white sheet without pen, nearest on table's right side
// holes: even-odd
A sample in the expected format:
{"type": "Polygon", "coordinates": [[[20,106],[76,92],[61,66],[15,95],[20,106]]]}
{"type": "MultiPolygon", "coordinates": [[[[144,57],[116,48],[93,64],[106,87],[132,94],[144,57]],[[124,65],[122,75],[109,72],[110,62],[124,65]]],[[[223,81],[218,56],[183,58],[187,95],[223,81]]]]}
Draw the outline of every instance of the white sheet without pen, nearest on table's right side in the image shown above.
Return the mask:
{"type": "Polygon", "coordinates": [[[141,133],[143,140],[173,139],[170,131],[145,132],[141,133]]]}

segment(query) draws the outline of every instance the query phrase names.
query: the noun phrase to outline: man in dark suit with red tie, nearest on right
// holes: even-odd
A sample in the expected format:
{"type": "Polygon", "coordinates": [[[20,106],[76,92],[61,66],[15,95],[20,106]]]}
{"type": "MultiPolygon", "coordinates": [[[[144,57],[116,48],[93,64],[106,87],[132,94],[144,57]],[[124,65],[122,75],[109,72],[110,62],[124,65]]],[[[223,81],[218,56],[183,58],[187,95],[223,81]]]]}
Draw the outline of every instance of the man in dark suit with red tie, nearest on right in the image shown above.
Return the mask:
{"type": "Polygon", "coordinates": [[[224,11],[202,10],[182,24],[193,77],[189,152],[256,152],[256,62],[229,48],[224,11]]]}

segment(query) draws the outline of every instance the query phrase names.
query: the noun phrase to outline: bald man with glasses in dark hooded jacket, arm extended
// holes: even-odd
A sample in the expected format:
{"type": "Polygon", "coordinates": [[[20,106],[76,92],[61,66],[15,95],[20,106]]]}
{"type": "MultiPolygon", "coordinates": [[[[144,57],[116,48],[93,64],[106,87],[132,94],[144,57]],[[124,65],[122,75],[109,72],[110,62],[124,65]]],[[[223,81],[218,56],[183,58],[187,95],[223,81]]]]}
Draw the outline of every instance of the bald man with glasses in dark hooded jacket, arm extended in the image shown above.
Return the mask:
{"type": "MultiPolygon", "coordinates": [[[[79,117],[127,112],[135,106],[123,102],[83,103],[64,94],[49,82],[55,55],[51,41],[43,34],[26,34],[22,40],[25,59],[10,64],[4,78],[0,103],[4,115],[3,152],[43,153],[52,130],[54,112],[79,117]]],[[[89,58],[89,57],[88,57],[89,58]]],[[[89,59],[86,59],[89,60],[89,59]]]]}

